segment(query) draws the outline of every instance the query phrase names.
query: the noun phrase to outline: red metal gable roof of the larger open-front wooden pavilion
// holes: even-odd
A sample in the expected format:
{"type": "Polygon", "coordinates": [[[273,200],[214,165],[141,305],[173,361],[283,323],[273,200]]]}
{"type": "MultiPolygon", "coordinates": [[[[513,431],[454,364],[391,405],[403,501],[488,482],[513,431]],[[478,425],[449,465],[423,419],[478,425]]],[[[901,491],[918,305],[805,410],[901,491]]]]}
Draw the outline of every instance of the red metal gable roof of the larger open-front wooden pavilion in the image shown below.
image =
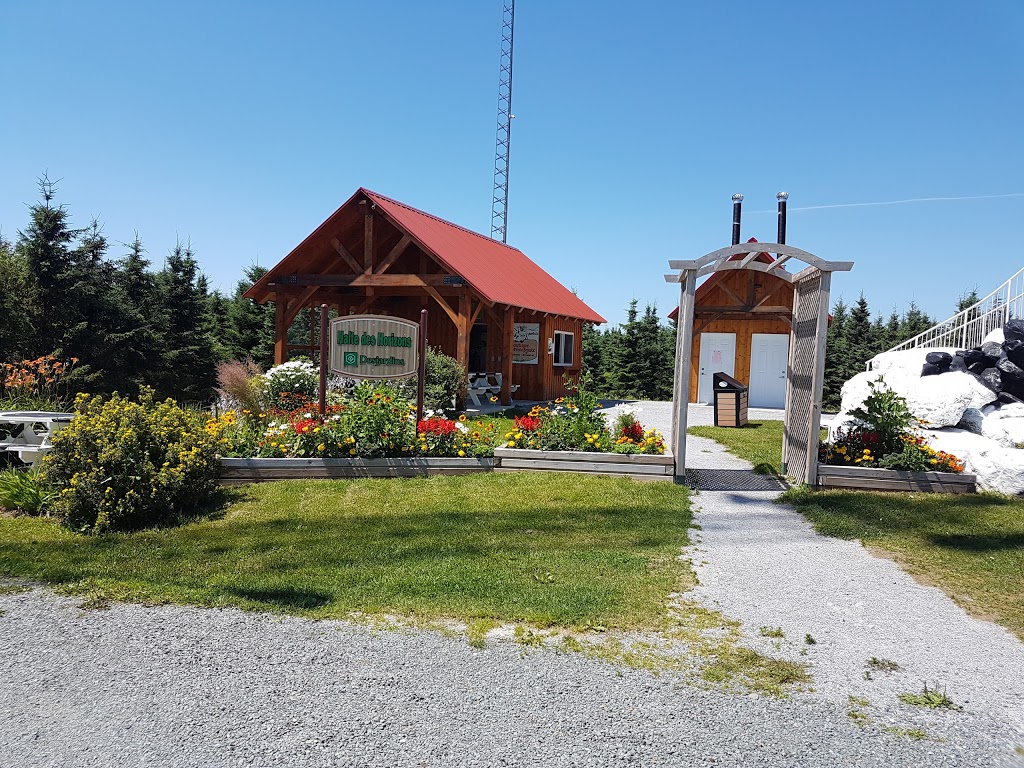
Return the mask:
{"type": "Polygon", "coordinates": [[[582,299],[552,278],[517,248],[486,238],[433,214],[359,187],[337,211],[309,237],[295,247],[276,266],[254,285],[246,295],[266,300],[271,275],[295,274],[317,243],[330,238],[333,224],[342,211],[366,197],[399,229],[451,273],[466,280],[482,298],[496,304],[536,309],[549,314],[579,317],[590,323],[605,323],[582,299]],[[251,295],[250,295],[251,294],[251,295]]]}

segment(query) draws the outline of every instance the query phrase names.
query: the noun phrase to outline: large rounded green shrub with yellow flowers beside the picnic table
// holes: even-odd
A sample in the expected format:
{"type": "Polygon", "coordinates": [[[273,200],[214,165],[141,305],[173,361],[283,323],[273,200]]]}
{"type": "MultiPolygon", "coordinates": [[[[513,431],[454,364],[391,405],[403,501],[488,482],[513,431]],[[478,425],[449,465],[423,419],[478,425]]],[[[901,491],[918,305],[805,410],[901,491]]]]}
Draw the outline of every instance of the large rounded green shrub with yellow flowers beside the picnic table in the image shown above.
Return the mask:
{"type": "Polygon", "coordinates": [[[52,510],[75,530],[106,532],[175,522],[217,487],[215,438],[174,400],[79,395],[53,439],[43,476],[60,488],[52,510]]]}

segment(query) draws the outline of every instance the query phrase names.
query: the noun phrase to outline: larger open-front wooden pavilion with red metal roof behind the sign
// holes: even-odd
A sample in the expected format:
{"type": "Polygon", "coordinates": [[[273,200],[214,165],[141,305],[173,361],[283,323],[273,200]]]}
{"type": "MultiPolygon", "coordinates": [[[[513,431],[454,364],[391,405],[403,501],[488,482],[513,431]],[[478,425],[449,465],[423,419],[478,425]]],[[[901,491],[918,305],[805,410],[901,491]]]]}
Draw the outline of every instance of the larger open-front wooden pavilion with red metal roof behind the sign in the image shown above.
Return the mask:
{"type": "MultiPolygon", "coordinates": [[[[274,302],[274,361],[306,307],[418,322],[467,374],[501,381],[501,400],[565,394],[578,376],[583,325],[604,318],[521,251],[360,187],[245,294],[274,302]],[[500,376],[498,376],[500,375],[500,376]]],[[[312,334],[312,332],[311,332],[312,334]]]]}

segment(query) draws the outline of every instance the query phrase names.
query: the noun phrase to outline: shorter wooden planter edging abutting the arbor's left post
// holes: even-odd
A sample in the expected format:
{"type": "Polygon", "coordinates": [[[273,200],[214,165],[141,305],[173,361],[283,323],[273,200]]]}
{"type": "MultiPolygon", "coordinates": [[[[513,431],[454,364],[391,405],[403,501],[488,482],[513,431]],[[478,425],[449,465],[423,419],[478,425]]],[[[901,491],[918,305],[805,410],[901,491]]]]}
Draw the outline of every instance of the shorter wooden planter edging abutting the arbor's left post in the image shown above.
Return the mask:
{"type": "Polygon", "coordinates": [[[495,459],[498,460],[496,472],[586,472],[638,480],[672,480],[675,474],[671,456],[495,449],[495,459]]]}

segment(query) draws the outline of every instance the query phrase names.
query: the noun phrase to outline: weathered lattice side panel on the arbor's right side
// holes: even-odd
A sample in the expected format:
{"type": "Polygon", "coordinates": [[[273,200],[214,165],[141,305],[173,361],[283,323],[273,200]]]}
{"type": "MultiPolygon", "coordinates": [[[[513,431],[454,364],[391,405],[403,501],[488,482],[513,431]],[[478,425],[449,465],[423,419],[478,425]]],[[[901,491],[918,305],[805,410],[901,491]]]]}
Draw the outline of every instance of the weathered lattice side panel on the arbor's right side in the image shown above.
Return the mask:
{"type": "Polygon", "coordinates": [[[811,452],[814,452],[814,461],[817,461],[818,430],[812,430],[810,423],[817,413],[815,400],[820,396],[814,391],[814,372],[817,367],[821,281],[822,272],[815,271],[797,284],[793,307],[791,368],[785,400],[785,458],[786,471],[798,482],[807,482],[809,479],[811,452]]]}

